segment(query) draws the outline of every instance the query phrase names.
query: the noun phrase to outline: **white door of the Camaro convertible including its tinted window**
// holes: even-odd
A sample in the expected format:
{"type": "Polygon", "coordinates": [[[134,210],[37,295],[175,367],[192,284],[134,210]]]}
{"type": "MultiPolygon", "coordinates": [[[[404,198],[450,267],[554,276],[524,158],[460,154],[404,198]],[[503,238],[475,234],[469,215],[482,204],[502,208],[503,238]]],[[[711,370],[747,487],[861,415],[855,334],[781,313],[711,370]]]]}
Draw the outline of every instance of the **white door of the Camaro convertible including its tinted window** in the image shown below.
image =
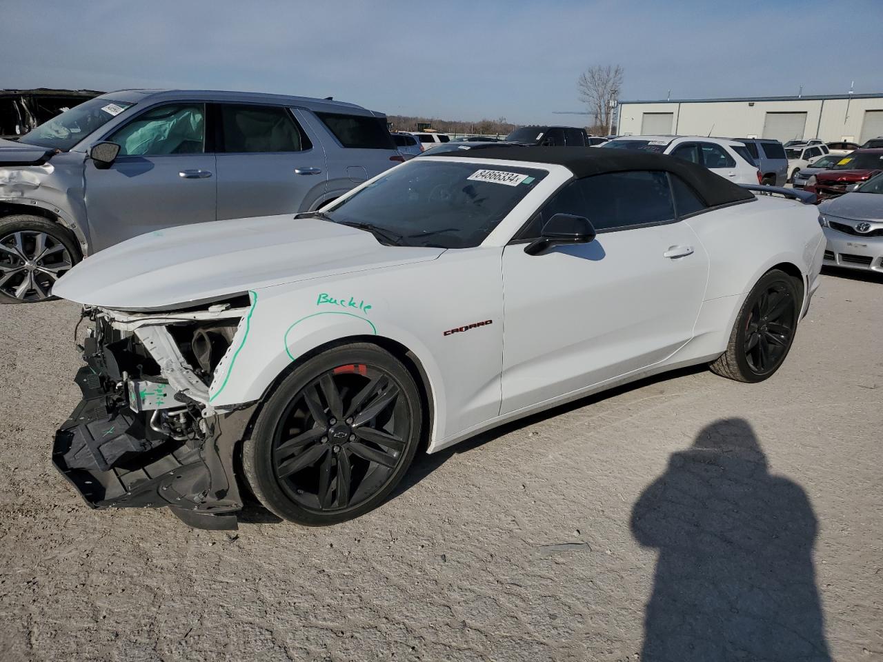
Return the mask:
{"type": "Polygon", "coordinates": [[[641,370],[691,339],[708,257],[675,218],[665,173],[597,175],[567,184],[506,246],[502,413],[641,370]],[[554,214],[589,218],[597,237],[527,254],[554,214]]]}

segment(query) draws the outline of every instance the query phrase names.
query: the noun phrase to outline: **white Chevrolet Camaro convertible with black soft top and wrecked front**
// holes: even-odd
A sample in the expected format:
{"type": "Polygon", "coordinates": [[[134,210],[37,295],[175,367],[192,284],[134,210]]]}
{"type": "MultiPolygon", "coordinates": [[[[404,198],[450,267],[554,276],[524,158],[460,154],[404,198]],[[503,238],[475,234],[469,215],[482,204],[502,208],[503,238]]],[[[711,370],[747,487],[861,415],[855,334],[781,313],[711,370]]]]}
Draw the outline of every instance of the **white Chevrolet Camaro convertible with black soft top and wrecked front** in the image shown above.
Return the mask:
{"type": "Polygon", "coordinates": [[[320,212],[135,237],[54,290],[91,323],[54,463],[96,508],[229,528],[247,489],[328,524],[421,448],[683,365],[765,380],[825,249],[784,197],[807,194],[779,192],[659,154],[490,147],[320,212]]]}

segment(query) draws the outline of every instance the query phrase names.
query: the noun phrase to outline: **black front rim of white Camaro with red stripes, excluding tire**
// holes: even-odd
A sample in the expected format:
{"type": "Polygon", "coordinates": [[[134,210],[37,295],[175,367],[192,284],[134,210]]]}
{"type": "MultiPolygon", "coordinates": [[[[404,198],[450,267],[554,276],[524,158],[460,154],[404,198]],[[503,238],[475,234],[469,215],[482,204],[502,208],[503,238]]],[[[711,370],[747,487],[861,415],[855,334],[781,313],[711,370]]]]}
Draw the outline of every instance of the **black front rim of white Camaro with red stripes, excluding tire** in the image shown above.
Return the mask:
{"type": "Polygon", "coordinates": [[[388,485],[412,421],[402,384],[378,365],[338,365],[291,399],[276,426],[275,479],[298,506],[342,513],[388,485]]]}

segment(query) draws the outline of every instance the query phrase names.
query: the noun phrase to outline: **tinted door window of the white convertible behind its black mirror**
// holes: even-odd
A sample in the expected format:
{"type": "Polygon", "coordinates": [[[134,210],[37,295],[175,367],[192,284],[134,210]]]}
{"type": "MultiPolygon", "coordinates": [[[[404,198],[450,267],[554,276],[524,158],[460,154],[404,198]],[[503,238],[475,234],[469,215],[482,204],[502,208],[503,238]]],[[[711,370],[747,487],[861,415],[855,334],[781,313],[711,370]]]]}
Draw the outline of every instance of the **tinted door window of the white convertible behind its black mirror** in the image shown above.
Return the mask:
{"type": "Polygon", "coordinates": [[[584,177],[557,192],[519,238],[539,237],[555,214],[585,216],[598,232],[605,232],[672,221],[675,207],[664,172],[633,170],[584,177]]]}

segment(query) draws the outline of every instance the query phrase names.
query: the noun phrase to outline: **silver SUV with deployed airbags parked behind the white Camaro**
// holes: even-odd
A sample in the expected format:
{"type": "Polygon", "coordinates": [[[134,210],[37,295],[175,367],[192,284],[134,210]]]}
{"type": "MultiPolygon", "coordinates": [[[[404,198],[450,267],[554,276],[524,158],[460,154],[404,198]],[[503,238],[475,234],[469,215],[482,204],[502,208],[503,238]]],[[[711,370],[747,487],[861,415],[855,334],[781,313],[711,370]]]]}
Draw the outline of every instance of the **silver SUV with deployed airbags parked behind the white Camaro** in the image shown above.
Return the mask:
{"type": "Polygon", "coordinates": [[[298,96],[124,90],[0,140],[0,303],[174,225],[321,207],[403,161],[386,116],[298,96]]]}

